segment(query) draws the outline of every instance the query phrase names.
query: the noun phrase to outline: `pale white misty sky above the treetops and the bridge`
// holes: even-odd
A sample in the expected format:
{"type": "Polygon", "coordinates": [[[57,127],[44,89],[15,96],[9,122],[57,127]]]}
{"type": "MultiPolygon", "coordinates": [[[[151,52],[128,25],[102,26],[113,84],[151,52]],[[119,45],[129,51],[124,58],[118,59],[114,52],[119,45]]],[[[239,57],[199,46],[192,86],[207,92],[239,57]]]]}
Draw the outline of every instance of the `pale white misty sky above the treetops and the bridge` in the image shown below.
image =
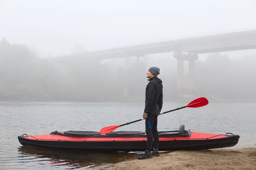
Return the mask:
{"type": "Polygon", "coordinates": [[[41,57],[256,28],[255,0],[0,0],[0,39],[41,57]]]}

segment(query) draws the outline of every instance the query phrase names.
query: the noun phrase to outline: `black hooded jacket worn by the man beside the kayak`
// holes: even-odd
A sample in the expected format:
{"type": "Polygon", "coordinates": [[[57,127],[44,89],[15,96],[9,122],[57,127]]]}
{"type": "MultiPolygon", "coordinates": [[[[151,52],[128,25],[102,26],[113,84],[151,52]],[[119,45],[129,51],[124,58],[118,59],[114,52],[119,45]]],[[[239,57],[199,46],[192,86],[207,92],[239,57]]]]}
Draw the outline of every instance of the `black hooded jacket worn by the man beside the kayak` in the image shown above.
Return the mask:
{"type": "Polygon", "coordinates": [[[148,79],[145,94],[144,113],[159,115],[163,106],[163,85],[162,80],[158,77],[148,79]]]}

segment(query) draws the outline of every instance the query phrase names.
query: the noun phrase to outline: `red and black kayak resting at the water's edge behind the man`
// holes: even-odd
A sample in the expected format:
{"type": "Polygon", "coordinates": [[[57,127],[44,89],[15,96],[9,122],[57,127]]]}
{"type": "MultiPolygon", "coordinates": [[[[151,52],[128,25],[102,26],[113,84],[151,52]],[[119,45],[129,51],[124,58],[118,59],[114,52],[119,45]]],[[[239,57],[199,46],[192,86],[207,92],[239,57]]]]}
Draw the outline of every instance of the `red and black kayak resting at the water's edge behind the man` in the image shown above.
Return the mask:
{"type": "MultiPolygon", "coordinates": [[[[233,147],[239,141],[239,135],[232,133],[213,134],[185,130],[180,125],[179,130],[160,131],[159,150],[205,150],[223,147],[233,147]]],[[[51,147],[79,150],[95,150],[107,152],[145,151],[147,137],[141,131],[116,131],[100,134],[97,131],[53,131],[49,134],[18,136],[20,144],[33,147],[51,147]]],[[[154,147],[154,141],[152,148],[154,147]]]]}

